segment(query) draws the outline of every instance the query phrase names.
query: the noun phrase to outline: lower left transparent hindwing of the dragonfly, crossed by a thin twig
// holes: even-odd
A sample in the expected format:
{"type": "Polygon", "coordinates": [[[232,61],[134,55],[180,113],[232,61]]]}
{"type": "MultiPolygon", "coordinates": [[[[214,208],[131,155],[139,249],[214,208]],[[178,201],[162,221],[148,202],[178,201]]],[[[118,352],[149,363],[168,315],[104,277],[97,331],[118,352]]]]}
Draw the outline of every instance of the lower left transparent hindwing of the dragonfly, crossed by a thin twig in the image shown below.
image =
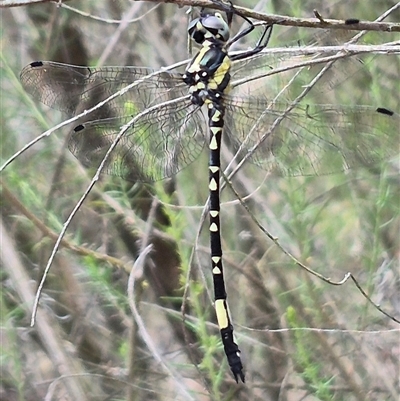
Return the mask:
{"type": "MultiPolygon", "coordinates": [[[[120,110],[122,111],[122,110],[120,110]]],[[[150,182],[176,174],[204,147],[207,125],[188,96],[142,113],[81,124],[70,151],[87,167],[98,167],[122,127],[131,124],[111,153],[104,172],[129,181],[150,182]]]]}

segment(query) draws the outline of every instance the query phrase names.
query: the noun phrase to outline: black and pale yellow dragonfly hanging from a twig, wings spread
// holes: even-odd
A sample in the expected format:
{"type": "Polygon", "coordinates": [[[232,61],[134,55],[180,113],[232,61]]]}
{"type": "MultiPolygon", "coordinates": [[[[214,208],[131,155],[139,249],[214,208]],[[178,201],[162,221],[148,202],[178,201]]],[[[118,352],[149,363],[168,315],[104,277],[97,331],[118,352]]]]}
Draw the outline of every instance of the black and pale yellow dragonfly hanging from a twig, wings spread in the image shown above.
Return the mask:
{"type": "Polygon", "coordinates": [[[69,116],[92,110],[82,115],[68,145],[87,167],[103,163],[104,173],[132,182],[154,182],[177,174],[208,144],[215,310],[236,382],[244,382],[245,375],[228,311],[222,263],[223,138],[229,139],[237,160],[284,175],[314,175],[388,159],[398,149],[400,126],[399,114],[383,106],[304,104],[301,82],[299,96],[290,95],[293,102],[265,92],[258,82],[274,73],[263,53],[271,27],[263,28],[254,48],[230,51],[254,29],[246,21],[249,27],[230,39],[229,25],[221,14],[202,12],[188,28],[200,50],[184,72],[36,61],[20,76],[25,90],[52,108],[69,116]]]}

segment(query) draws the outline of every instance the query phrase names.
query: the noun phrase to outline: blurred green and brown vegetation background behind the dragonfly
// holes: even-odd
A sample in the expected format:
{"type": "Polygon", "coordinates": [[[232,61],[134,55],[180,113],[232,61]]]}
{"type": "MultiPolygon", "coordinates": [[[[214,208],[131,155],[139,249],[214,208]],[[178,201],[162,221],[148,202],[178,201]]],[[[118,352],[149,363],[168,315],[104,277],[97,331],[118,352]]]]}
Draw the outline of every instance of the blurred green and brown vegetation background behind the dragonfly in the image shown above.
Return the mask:
{"type": "MultiPolygon", "coordinates": [[[[316,8],[325,18],[371,21],[395,3],[238,2],[292,17],[312,17],[316,8]]],[[[2,10],[2,162],[65,118],[22,89],[19,72],[29,62],[159,68],[190,57],[187,8],[127,0],[65,5],[73,9],[37,4],[2,10]]],[[[388,20],[399,22],[400,10],[388,20]]],[[[232,30],[242,25],[235,18],[232,30]]],[[[322,37],[335,43],[337,34],[322,37]]],[[[270,47],[319,35],[277,26],[270,47]]],[[[398,33],[374,35],[367,41],[400,39],[398,33]]],[[[333,89],[322,82],[314,100],[399,113],[399,56],[367,55],[355,64],[353,73],[338,63],[333,89]]],[[[152,186],[102,176],[56,255],[31,328],[33,295],[55,235],[93,173],[68,152],[70,129],[20,155],[1,177],[0,400],[397,399],[399,326],[353,282],[332,286],[294,264],[226,188],[225,278],[246,369],[246,384],[234,383],[216,326],[208,228],[201,218],[207,152],[152,186]],[[153,249],[143,271],[135,271],[129,297],[130,269],[147,244],[153,249]],[[147,337],[139,334],[138,316],[147,337]]],[[[233,186],[299,260],[334,281],[353,273],[375,302],[400,317],[398,161],[319,177],[278,177],[248,166],[233,186]]]]}

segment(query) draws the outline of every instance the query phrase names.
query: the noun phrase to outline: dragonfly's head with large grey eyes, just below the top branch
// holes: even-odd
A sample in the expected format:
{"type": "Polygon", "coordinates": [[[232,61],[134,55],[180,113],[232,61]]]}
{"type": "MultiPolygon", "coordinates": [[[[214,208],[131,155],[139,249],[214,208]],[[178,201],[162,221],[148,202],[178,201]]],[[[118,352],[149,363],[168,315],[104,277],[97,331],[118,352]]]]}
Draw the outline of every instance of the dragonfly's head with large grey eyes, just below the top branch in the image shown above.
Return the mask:
{"type": "Polygon", "coordinates": [[[188,27],[189,36],[198,44],[207,39],[217,39],[227,42],[229,26],[220,13],[205,14],[194,19],[188,27]]]}

